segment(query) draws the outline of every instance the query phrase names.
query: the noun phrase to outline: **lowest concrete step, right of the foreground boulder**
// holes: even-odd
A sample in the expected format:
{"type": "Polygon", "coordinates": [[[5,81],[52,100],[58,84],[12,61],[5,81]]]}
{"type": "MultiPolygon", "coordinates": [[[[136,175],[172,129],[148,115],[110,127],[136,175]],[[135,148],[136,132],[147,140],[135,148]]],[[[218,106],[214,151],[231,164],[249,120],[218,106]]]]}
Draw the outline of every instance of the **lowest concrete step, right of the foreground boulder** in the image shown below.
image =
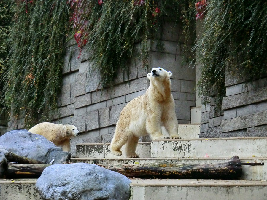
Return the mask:
{"type": "Polygon", "coordinates": [[[130,200],[266,199],[267,183],[244,180],[131,180],[130,200]]]}

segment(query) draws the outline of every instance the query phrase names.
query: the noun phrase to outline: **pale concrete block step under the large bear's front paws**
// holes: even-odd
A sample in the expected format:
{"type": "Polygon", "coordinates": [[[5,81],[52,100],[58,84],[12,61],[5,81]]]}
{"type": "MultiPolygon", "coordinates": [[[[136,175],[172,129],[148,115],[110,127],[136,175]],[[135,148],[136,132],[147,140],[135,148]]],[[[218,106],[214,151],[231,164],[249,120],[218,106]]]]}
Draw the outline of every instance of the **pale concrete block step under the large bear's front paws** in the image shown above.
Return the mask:
{"type": "Polygon", "coordinates": [[[153,140],[152,158],[267,157],[267,137],[199,138],[192,140],[153,140]]]}

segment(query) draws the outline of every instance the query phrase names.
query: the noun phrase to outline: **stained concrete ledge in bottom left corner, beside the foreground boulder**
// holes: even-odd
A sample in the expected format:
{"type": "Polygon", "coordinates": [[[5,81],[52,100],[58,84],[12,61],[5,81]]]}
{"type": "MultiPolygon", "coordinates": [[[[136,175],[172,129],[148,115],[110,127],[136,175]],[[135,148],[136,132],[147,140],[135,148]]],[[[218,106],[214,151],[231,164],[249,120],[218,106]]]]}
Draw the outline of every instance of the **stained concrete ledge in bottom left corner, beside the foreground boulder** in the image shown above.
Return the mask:
{"type": "Polygon", "coordinates": [[[43,200],[36,191],[37,179],[0,179],[0,200],[43,200]]]}

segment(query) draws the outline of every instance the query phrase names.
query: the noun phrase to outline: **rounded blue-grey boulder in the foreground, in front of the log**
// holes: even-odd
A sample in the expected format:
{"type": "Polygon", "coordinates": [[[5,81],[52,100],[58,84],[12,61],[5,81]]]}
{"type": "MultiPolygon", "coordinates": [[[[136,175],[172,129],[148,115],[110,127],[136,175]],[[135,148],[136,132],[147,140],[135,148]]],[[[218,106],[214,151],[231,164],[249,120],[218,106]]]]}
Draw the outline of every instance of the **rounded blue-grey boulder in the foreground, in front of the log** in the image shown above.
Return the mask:
{"type": "Polygon", "coordinates": [[[36,188],[46,200],[128,200],[130,180],[94,164],[51,165],[43,171],[36,188]]]}

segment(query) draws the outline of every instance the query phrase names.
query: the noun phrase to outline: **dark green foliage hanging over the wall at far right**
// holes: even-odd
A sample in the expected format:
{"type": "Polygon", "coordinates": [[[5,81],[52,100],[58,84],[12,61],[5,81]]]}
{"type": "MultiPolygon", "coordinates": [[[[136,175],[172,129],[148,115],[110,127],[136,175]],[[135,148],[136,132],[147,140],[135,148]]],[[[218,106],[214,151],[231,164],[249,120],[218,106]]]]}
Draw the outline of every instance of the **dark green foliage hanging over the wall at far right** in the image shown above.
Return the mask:
{"type": "Polygon", "coordinates": [[[246,81],[266,71],[267,2],[209,0],[204,17],[204,32],[196,43],[201,62],[198,82],[204,101],[210,89],[218,92],[217,102],[225,96],[225,70],[237,70],[246,81]]]}

